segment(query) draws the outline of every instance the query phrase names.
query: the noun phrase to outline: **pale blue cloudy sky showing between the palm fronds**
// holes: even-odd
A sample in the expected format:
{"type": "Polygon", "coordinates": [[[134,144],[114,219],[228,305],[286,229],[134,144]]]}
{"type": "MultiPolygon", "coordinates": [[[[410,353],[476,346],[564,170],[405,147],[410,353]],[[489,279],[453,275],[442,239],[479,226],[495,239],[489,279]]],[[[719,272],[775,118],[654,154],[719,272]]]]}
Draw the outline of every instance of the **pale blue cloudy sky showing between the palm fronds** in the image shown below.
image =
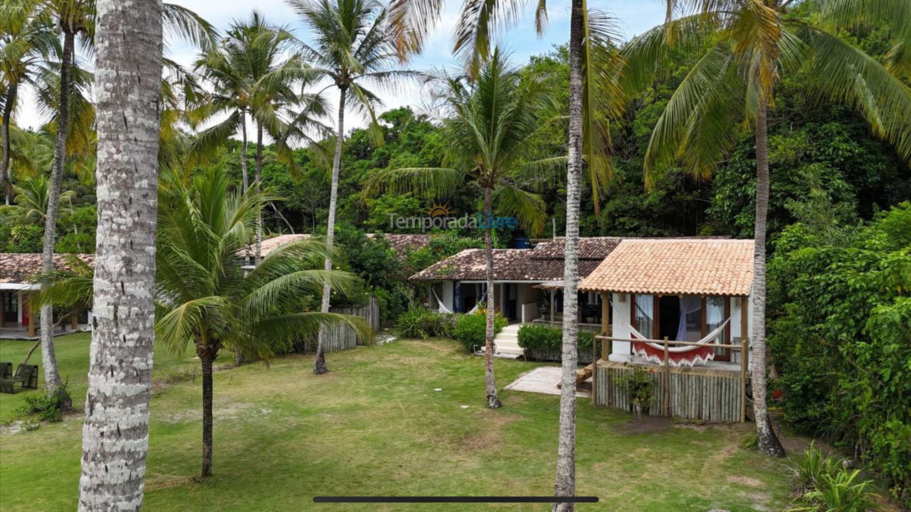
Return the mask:
{"type": "MultiPolygon", "coordinates": [[[[265,18],[275,24],[285,26],[292,33],[307,40],[307,28],[300,23],[292,9],[284,0],[166,0],[184,5],[198,15],[209,20],[219,30],[230,26],[232,21],[248,18],[253,9],[258,10],[265,18]]],[[[512,61],[519,65],[527,62],[529,56],[548,52],[553,46],[564,44],[569,38],[569,0],[548,1],[548,28],[543,37],[535,33],[533,6],[536,2],[526,2],[527,13],[508,31],[497,35],[496,42],[510,52],[512,61]]],[[[445,3],[445,11],[437,24],[435,32],[427,41],[425,50],[415,56],[406,67],[415,70],[431,70],[456,66],[450,49],[452,29],[458,15],[461,2],[450,0],[445,3]]],[[[641,34],[664,20],[664,0],[596,0],[589,2],[589,8],[597,8],[613,15],[619,32],[630,38],[641,34]]],[[[167,40],[166,53],[179,64],[189,66],[194,60],[194,48],[175,40],[167,40]]],[[[384,101],[381,110],[409,106],[421,111],[425,106],[426,95],[420,87],[405,84],[394,90],[375,91],[384,101]]],[[[25,128],[37,128],[46,119],[41,118],[31,91],[25,91],[24,101],[16,113],[16,123],[25,128]]],[[[334,98],[329,96],[329,112],[334,112],[334,98]]],[[[326,124],[334,126],[334,119],[326,119],[326,124]]],[[[363,127],[365,120],[349,113],[346,116],[345,131],[363,127]]]]}

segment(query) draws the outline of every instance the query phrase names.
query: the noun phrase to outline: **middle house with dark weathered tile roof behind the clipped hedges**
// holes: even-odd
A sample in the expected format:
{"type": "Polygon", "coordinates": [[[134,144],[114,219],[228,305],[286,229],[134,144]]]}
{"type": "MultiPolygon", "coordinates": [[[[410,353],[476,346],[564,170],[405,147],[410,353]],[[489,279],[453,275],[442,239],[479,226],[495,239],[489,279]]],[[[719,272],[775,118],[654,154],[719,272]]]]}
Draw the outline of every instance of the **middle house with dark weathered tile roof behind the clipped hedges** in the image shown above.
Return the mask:
{"type": "MultiPolygon", "coordinates": [[[[588,276],[617,247],[616,237],[579,239],[579,276],[588,276]]],[[[531,241],[528,249],[495,249],[496,309],[510,323],[562,323],[564,239],[531,241]]],[[[483,249],[466,249],[417,272],[412,281],[427,282],[434,308],[467,312],[486,298],[483,249]]],[[[579,322],[597,331],[601,322],[598,293],[579,294],[579,322]]]]}

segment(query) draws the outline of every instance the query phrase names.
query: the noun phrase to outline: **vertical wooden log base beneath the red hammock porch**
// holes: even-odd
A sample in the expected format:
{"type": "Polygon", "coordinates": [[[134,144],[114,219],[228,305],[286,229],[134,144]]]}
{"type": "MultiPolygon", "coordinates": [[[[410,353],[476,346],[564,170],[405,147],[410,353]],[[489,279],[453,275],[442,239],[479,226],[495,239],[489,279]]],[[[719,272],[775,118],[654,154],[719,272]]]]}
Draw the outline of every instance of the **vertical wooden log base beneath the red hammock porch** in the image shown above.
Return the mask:
{"type": "Polygon", "coordinates": [[[743,421],[742,374],[711,366],[671,366],[616,363],[599,359],[592,400],[596,405],[631,410],[619,380],[639,366],[655,383],[649,415],[679,417],[711,423],[743,421]]]}

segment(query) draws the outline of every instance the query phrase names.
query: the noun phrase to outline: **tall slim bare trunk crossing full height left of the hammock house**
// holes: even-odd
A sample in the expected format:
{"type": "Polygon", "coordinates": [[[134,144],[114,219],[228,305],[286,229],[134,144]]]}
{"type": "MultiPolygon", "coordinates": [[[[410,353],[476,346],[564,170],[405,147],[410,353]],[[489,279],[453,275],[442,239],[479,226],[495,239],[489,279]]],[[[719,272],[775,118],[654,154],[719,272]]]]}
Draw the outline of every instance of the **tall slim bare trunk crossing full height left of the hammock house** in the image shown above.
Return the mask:
{"type": "MultiPolygon", "coordinates": [[[[563,249],[563,353],[560,425],[554,496],[576,495],[576,366],[578,361],[578,208],[582,181],[582,0],[572,0],[569,19],[569,146],[567,226],[563,249]]],[[[597,371],[597,368],[596,368],[597,371]]],[[[555,512],[575,504],[555,503],[555,512]]]]}

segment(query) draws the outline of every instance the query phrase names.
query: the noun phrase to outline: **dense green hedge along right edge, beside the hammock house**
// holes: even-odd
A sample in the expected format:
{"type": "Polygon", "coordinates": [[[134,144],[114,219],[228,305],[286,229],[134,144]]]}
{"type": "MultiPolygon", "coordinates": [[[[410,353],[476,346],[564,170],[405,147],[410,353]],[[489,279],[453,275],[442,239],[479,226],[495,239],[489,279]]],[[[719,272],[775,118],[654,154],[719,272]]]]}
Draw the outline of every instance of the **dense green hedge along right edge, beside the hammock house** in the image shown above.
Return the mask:
{"type": "Polygon", "coordinates": [[[769,344],[785,420],[859,453],[911,505],[911,203],[824,237],[784,230],[769,344]]]}

